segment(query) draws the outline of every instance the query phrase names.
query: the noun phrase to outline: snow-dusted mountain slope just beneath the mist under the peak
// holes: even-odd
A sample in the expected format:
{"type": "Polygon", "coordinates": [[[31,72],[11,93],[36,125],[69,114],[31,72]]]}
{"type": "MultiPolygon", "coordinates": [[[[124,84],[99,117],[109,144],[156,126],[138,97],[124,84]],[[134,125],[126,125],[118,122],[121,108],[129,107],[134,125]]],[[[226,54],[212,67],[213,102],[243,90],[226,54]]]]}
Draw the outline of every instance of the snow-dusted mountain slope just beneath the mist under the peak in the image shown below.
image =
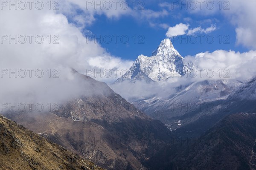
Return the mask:
{"type": "MultiPolygon", "coordinates": [[[[133,103],[140,105],[148,115],[155,116],[157,112],[169,110],[174,112],[177,108],[181,114],[200,106],[202,102],[226,99],[242,82],[234,80],[205,80],[180,85],[176,92],[167,97],[155,95],[151,98],[137,99],[133,103]],[[192,105],[193,104],[193,105],[192,105]],[[154,114],[155,113],[155,114],[154,114]]],[[[180,113],[178,113],[180,115],[180,113]]],[[[175,113],[170,116],[177,116],[175,113]]],[[[164,120],[161,120],[164,121],[164,120]]]]}

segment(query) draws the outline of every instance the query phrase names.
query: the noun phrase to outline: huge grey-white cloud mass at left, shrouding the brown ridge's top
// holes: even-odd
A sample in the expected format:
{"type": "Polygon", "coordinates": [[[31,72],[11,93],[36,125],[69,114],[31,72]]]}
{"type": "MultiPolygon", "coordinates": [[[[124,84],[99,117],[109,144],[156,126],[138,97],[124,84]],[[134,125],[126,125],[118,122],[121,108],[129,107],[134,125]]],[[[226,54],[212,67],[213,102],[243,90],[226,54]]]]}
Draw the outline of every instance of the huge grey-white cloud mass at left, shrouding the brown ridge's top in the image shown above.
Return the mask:
{"type": "MultiPolygon", "coordinates": [[[[5,41],[1,43],[0,68],[19,71],[25,69],[25,78],[9,77],[3,75],[0,81],[1,102],[12,103],[59,103],[77,97],[81,94],[90,94],[86,84],[81,82],[73,74],[74,68],[80,73],[84,73],[88,68],[127,68],[130,62],[114,57],[105,48],[102,48],[94,41],[88,41],[83,36],[80,29],[68,22],[67,17],[60,11],[49,10],[1,10],[1,35],[34,35],[32,43],[27,38],[26,43],[21,44],[5,41]],[[44,41],[39,44],[35,42],[35,36],[41,35],[44,41]],[[51,42],[47,37],[51,37],[51,42]],[[54,35],[59,39],[58,44],[53,44],[54,35]],[[100,61],[97,65],[94,61],[100,61]],[[110,64],[107,64],[110,62],[110,64]],[[34,69],[32,77],[29,77],[27,69],[34,69]],[[35,76],[35,70],[41,69],[44,77],[35,76]],[[48,74],[50,70],[51,77],[48,74]],[[57,73],[59,78],[52,78],[57,73]],[[68,89],[68,90],[67,90],[68,89]]],[[[82,20],[78,18],[77,20],[82,20]]],[[[82,22],[82,21],[81,21],[82,22]]],[[[129,65],[129,66],[128,66],[129,65]]],[[[1,71],[2,71],[1,70],[1,71]]],[[[116,77],[108,78],[108,81],[115,80],[116,77]]],[[[106,80],[107,81],[107,80],[106,80]]],[[[100,89],[99,89],[100,90],[100,89]]],[[[94,93],[94,92],[93,92],[94,93]]],[[[95,92],[96,93],[96,92],[95,92]]],[[[45,106],[46,107],[46,106],[45,106]]],[[[46,107],[47,108],[47,107],[46,107]]]]}

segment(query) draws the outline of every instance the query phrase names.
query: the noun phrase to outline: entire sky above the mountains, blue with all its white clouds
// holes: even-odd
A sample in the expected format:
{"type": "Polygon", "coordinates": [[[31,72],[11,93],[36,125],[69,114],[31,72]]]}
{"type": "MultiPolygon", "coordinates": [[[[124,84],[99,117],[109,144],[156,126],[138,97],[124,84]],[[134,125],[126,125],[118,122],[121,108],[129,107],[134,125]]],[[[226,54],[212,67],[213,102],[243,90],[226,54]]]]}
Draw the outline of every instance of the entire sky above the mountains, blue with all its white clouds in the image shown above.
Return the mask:
{"type": "MultiPolygon", "coordinates": [[[[202,63],[202,67],[210,63],[211,69],[228,68],[238,78],[250,77],[248,71],[255,70],[255,62],[251,62],[256,57],[255,0],[204,0],[202,8],[198,0],[118,0],[117,8],[112,6],[110,9],[106,9],[106,6],[95,8],[93,3],[112,2],[113,5],[113,0],[63,0],[59,3],[59,10],[49,10],[47,2],[44,1],[45,8],[42,10],[10,10],[9,6],[2,6],[1,34],[12,37],[44,35],[45,40],[49,35],[59,37],[58,44],[49,44],[47,41],[44,44],[9,44],[5,40],[1,44],[1,56],[12,54],[19,61],[18,67],[32,67],[31,63],[21,64],[21,56],[26,58],[24,61],[34,60],[33,56],[37,56],[40,59],[36,59],[34,64],[39,66],[33,68],[43,67],[48,70],[49,63],[52,63],[54,66],[51,68],[74,68],[82,74],[87,74],[90,69],[118,69],[118,76],[112,74],[111,77],[97,77],[96,74],[88,74],[97,80],[111,83],[122,76],[122,70],[129,69],[139,55],[151,56],[151,52],[168,37],[185,60],[198,60],[195,62],[202,63]],[[123,2],[128,2],[129,8],[121,8],[123,2]],[[132,4],[134,2],[137,4],[136,9],[132,4]],[[197,7],[193,9],[186,4],[186,9],[186,6],[180,5],[191,2],[198,3],[197,7]],[[215,7],[209,9],[207,3],[214,3],[215,7]],[[140,5],[143,5],[143,9],[138,9],[140,5]],[[224,5],[228,5],[227,10],[224,10],[224,5]],[[115,35],[119,36],[116,42],[113,37],[115,35]],[[106,39],[95,43],[88,36],[102,36],[106,39]],[[202,42],[199,36],[204,36],[202,42]],[[107,43],[109,37],[111,41],[107,43]],[[121,42],[121,37],[128,37],[128,42],[121,42]],[[207,42],[206,37],[209,41],[213,37],[214,41],[207,42]],[[197,42],[193,43],[195,38],[197,42]],[[196,56],[204,57],[198,59],[196,56]]],[[[12,61],[15,59],[7,57],[6,61],[14,67],[12,61]]]]}

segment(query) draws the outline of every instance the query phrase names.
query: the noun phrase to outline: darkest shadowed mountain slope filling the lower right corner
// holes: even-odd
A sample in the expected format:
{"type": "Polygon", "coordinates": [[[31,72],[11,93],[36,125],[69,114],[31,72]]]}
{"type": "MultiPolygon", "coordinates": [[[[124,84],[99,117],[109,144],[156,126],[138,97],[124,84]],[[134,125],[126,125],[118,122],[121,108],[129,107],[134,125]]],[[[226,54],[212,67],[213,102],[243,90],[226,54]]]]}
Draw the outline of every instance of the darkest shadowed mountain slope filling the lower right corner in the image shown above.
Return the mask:
{"type": "Polygon", "coordinates": [[[226,116],[200,138],[164,147],[148,160],[148,166],[152,170],[255,170],[255,122],[255,113],[226,116]]]}

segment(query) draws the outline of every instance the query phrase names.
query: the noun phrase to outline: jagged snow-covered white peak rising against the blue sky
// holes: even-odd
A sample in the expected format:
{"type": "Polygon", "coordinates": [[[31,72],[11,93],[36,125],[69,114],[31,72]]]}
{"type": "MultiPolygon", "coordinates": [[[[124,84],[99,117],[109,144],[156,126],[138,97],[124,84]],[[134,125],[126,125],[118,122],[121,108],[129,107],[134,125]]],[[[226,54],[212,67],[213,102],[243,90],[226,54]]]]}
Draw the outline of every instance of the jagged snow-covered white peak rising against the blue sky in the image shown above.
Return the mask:
{"type": "Polygon", "coordinates": [[[192,67],[192,63],[185,64],[183,57],[174,48],[170,39],[164,39],[153,51],[151,57],[138,56],[131,68],[117,82],[129,80],[162,81],[171,77],[183,76],[192,67]]]}

